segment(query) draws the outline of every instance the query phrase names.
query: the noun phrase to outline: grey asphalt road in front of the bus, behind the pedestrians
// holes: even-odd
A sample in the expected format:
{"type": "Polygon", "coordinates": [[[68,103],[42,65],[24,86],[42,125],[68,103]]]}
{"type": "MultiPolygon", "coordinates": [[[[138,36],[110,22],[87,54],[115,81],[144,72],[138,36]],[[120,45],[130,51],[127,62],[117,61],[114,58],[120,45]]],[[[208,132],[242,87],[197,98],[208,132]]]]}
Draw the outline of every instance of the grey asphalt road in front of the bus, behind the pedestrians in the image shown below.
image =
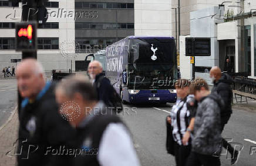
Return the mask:
{"type": "MultiPolygon", "coordinates": [[[[133,135],[134,146],[144,166],[176,165],[174,157],[166,153],[166,124],[164,122],[171,104],[158,106],[125,105],[127,110],[120,116],[133,135]],[[136,107],[137,109],[132,107],[136,107]],[[136,112],[134,111],[136,110],[136,112]],[[127,113],[128,112],[128,113],[127,113]]],[[[250,166],[256,163],[256,113],[234,109],[225,126],[223,137],[231,140],[233,147],[241,150],[236,165],[250,166]],[[247,141],[245,141],[247,140],[247,141]],[[253,147],[255,146],[255,147],[253,147]],[[254,150],[252,155],[251,151],[254,150]]],[[[223,149],[221,165],[230,165],[230,155],[223,149]]]]}

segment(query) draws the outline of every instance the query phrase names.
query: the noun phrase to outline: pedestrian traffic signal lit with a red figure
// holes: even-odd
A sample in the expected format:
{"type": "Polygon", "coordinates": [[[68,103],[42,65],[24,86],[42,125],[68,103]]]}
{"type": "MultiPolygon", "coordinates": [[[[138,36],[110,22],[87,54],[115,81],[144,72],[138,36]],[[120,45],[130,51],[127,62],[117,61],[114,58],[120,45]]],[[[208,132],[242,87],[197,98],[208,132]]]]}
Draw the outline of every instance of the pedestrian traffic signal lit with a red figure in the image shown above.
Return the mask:
{"type": "Polygon", "coordinates": [[[16,23],[15,35],[17,51],[36,51],[36,22],[16,23]]]}

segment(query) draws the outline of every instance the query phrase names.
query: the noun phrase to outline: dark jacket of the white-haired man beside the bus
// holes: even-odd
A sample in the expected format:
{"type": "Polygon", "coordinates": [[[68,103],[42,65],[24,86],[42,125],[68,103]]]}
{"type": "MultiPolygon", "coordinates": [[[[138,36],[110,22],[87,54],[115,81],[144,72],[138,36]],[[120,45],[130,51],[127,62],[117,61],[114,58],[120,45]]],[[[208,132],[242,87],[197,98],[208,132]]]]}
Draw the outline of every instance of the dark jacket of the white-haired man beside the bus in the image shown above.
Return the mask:
{"type": "Polygon", "coordinates": [[[110,94],[113,93],[113,87],[110,84],[110,80],[107,79],[103,73],[96,75],[93,87],[96,89],[98,101],[103,101],[107,106],[112,106],[110,103],[110,94]],[[99,82],[100,77],[104,78],[99,82]]]}

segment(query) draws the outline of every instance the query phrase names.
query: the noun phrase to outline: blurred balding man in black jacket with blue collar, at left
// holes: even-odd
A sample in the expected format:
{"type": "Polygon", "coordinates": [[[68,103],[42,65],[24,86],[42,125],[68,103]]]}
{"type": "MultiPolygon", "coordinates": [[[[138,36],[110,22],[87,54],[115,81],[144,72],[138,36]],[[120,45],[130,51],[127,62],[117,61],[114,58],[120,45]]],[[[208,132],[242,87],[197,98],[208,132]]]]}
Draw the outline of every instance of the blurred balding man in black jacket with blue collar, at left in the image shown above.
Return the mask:
{"type": "Polygon", "coordinates": [[[43,67],[34,59],[23,60],[18,65],[16,78],[24,98],[19,113],[18,165],[68,164],[68,157],[56,160],[60,156],[46,153],[49,147],[65,146],[75,134],[59,114],[54,84],[45,81],[43,67]]]}

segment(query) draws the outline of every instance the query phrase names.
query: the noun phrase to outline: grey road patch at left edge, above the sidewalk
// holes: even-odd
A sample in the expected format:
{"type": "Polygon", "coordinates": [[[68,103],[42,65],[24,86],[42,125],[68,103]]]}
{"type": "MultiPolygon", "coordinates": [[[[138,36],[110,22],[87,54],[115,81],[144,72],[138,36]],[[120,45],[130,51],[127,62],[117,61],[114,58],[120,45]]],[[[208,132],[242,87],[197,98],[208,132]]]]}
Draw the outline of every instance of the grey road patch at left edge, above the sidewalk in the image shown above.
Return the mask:
{"type": "Polygon", "coordinates": [[[8,120],[17,103],[15,79],[0,79],[0,127],[8,120]]]}

